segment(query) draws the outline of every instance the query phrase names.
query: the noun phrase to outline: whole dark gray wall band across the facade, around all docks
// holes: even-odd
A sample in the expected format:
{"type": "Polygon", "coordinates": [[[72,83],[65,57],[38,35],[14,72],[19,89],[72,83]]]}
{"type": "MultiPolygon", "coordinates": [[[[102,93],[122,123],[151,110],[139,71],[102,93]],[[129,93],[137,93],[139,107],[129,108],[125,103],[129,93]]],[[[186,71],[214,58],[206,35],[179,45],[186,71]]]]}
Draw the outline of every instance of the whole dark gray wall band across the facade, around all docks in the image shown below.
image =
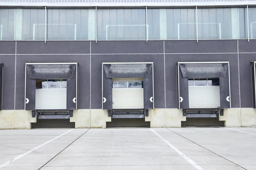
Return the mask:
{"type": "Polygon", "coordinates": [[[0,62],[4,63],[3,110],[14,109],[14,103],[16,103],[15,109],[24,109],[26,62],[79,62],[79,109],[90,108],[90,84],[91,108],[101,109],[102,62],[154,62],[154,106],[165,108],[164,81],[166,80],[166,108],[177,108],[176,62],[229,61],[231,106],[240,107],[240,74],[241,107],[253,107],[250,61],[256,61],[256,40],[250,42],[247,40],[148,41],[148,43],[145,41],[98,41],[97,43],[95,41],[47,43],[17,41],[17,48],[15,46],[16,42],[0,41],[0,62]]]}

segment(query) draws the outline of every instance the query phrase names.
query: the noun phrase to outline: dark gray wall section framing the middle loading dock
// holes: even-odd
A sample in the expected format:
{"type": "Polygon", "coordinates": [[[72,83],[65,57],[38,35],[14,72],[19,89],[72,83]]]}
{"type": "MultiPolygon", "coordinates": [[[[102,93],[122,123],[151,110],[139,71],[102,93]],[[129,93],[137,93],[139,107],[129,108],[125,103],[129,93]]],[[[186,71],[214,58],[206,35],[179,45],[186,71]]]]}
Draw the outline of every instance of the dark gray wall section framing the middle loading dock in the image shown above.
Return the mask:
{"type": "Polygon", "coordinates": [[[92,42],[91,108],[102,108],[102,62],[154,62],[154,108],[165,108],[163,52],[163,41],[92,42]]]}

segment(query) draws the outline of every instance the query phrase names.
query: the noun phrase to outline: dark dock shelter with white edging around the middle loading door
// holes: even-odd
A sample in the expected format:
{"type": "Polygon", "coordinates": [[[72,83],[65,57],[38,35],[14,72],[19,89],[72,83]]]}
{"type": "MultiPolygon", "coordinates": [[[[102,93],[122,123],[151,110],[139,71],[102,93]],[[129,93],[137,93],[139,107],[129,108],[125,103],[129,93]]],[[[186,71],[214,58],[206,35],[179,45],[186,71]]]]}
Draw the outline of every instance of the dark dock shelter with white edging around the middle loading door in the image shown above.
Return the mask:
{"type": "MultiPolygon", "coordinates": [[[[154,108],[153,92],[153,63],[102,63],[102,109],[113,109],[113,97],[116,89],[112,90],[112,79],[143,79],[143,109],[154,108]]],[[[138,89],[137,89],[138,90],[138,89]]],[[[142,90],[139,90],[142,92],[142,90]]],[[[138,92],[138,94],[140,93],[138,92]]],[[[125,92],[124,92],[125,93],[125,92]]],[[[128,95],[128,94],[127,94],[128,95]]],[[[128,102],[128,101],[127,101],[128,102]]],[[[120,105],[119,105],[120,106],[120,105]]],[[[115,107],[114,107],[115,108],[115,107]]],[[[119,108],[133,108],[122,103],[119,108]]],[[[137,108],[141,108],[137,105],[137,108]]],[[[134,108],[133,108],[134,109],[134,108]]]]}

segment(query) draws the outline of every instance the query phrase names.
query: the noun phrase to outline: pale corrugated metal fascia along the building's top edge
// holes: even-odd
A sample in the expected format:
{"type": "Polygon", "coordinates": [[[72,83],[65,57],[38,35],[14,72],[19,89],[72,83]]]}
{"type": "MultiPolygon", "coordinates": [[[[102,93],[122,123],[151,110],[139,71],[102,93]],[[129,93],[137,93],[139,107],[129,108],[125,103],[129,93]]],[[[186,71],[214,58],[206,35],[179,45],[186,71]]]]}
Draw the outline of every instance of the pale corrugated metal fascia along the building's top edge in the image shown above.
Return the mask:
{"type": "Polygon", "coordinates": [[[245,6],[256,0],[0,0],[0,6],[27,7],[180,7],[180,6],[245,6]]]}

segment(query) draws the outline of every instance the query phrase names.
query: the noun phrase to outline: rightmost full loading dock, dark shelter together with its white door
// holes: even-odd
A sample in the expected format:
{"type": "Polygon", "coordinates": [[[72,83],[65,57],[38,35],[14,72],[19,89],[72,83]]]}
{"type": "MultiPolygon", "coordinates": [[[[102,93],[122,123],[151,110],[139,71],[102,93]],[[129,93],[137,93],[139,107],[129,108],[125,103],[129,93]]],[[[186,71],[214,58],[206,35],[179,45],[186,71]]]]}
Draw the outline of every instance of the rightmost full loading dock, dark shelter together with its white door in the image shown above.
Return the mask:
{"type": "Polygon", "coordinates": [[[231,107],[229,62],[178,62],[177,69],[178,108],[189,109],[231,107]],[[190,79],[201,78],[218,78],[219,85],[208,88],[199,87],[199,89],[195,89],[198,87],[189,86],[190,79]]]}

